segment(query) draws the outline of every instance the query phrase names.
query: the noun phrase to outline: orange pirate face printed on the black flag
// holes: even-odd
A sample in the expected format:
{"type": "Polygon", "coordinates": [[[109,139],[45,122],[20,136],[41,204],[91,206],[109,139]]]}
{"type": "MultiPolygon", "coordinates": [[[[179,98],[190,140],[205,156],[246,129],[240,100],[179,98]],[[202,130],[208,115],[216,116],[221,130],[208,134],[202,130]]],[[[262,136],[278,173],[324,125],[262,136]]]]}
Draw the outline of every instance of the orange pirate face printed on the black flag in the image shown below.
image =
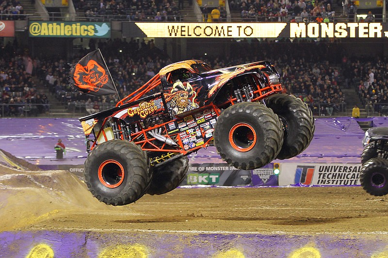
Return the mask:
{"type": "Polygon", "coordinates": [[[108,82],[105,69],[94,60],[89,60],[86,66],[77,64],[73,77],[79,88],[94,92],[97,92],[108,82]]]}

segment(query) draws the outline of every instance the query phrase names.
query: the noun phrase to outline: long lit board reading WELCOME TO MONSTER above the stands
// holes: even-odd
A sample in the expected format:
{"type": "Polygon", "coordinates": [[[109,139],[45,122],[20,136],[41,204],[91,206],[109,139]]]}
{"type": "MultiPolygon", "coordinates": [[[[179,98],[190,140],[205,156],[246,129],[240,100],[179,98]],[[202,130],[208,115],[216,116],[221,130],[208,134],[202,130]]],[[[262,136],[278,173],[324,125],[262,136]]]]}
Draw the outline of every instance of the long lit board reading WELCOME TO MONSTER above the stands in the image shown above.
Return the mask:
{"type": "Polygon", "coordinates": [[[162,38],[385,38],[382,22],[123,22],[123,37],[162,38]]]}

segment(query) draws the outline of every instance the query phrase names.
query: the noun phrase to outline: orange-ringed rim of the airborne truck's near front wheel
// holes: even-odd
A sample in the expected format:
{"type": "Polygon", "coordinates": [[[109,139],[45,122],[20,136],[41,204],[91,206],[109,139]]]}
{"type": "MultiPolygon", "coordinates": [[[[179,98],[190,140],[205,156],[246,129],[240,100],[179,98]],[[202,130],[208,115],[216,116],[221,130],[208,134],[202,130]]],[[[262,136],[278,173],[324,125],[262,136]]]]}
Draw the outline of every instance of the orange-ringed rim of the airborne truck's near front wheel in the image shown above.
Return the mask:
{"type": "Polygon", "coordinates": [[[256,145],[256,131],[249,124],[238,123],[229,131],[229,142],[237,151],[249,151],[256,145]]]}

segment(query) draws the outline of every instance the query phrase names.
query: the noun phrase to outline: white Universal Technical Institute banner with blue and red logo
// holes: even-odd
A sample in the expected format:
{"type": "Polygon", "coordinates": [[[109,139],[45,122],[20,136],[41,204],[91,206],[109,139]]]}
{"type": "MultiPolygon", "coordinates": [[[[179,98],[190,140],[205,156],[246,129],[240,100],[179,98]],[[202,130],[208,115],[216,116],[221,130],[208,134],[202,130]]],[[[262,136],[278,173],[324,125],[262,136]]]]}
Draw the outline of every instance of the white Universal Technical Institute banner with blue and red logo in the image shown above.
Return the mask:
{"type": "Polygon", "coordinates": [[[283,163],[279,185],[360,185],[360,163],[283,163]]]}

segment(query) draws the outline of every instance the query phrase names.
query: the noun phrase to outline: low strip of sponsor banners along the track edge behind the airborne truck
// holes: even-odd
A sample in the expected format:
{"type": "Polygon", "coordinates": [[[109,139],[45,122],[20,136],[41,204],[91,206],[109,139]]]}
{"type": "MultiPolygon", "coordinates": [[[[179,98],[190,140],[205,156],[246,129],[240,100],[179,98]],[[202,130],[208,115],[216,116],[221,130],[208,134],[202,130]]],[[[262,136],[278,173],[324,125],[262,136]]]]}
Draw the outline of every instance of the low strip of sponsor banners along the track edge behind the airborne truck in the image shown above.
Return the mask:
{"type": "MultiPolygon", "coordinates": [[[[45,170],[68,170],[83,177],[83,165],[40,165],[45,170]]],[[[356,186],[360,185],[360,163],[274,163],[254,170],[241,170],[226,163],[189,163],[183,185],[209,186],[356,186]]]]}

